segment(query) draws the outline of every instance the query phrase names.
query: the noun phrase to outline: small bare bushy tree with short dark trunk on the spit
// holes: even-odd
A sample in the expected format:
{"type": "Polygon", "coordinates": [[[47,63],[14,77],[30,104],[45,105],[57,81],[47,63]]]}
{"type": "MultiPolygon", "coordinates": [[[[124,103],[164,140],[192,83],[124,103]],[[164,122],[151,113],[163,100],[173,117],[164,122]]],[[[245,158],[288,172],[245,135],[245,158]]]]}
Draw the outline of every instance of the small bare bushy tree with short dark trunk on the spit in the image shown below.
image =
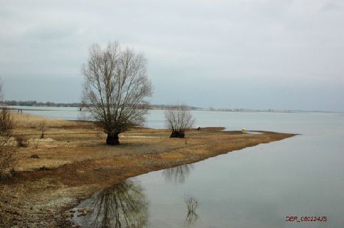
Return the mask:
{"type": "Polygon", "coordinates": [[[178,105],[175,109],[167,109],[165,120],[167,128],[172,130],[171,138],[184,138],[185,130],[191,128],[195,122],[195,118],[185,104],[178,105]]]}

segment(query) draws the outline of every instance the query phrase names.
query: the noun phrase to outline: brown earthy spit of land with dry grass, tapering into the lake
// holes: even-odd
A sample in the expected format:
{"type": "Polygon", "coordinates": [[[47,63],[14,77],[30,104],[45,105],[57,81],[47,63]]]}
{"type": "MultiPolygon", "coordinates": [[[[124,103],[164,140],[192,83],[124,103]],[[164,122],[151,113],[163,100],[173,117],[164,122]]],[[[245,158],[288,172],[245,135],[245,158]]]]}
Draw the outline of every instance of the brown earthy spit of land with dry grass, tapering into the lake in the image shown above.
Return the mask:
{"type": "Polygon", "coordinates": [[[92,122],[47,126],[45,139],[30,124],[14,128],[23,147],[12,179],[0,183],[0,227],[71,227],[69,209],[118,181],[294,136],[202,128],[170,139],[169,130],[133,128],[120,134],[119,146],[107,146],[92,122]]]}

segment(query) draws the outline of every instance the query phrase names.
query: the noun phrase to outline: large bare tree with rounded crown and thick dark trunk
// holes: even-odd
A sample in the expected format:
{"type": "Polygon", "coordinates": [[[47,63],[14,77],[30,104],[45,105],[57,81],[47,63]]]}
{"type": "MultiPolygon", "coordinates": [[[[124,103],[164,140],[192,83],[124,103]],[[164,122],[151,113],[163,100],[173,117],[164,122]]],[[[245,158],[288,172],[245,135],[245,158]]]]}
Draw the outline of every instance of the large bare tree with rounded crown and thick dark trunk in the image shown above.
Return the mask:
{"type": "Polygon", "coordinates": [[[107,133],[109,145],[119,144],[120,133],[144,122],[149,105],[145,98],[152,93],[146,65],[142,54],[121,50],[116,42],[89,49],[82,70],[83,104],[107,133]]]}

